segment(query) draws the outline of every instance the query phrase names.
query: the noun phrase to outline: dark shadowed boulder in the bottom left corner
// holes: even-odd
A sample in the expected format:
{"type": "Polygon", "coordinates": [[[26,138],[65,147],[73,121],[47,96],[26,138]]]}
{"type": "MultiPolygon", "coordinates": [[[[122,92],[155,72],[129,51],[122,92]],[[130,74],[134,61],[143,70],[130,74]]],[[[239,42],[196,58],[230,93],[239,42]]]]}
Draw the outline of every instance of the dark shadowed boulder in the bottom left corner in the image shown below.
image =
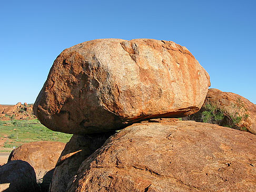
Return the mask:
{"type": "Polygon", "coordinates": [[[0,166],[0,189],[5,192],[39,191],[33,167],[26,161],[13,160],[0,166]]]}

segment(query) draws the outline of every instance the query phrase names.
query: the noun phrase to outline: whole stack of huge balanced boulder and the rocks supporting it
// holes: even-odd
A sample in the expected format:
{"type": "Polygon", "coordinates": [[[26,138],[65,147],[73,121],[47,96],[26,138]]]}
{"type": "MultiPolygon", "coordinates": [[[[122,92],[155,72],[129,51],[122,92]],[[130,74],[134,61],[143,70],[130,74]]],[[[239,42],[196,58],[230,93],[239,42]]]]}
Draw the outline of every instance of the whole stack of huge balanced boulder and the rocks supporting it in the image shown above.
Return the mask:
{"type": "Polygon", "coordinates": [[[65,49],[34,104],[46,127],[74,134],[50,191],[255,191],[256,135],[180,121],[210,78],[183,46],[96,39],[65,49]]]}

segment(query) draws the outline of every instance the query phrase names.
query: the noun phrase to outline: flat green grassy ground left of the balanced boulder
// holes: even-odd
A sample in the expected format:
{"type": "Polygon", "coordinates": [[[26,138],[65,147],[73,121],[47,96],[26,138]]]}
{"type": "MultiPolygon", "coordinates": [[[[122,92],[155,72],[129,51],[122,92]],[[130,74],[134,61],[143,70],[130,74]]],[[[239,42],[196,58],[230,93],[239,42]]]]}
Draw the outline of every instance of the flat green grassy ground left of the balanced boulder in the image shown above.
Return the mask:
{"type": "Polygon", "coordinates": [[[41,140],[67,143],[71,136],[71,134],[54,132],[37,119],[0,121],[0,141],[1,139],[4,141],[0,152],[11,151],[13,147],[41,140]]]}

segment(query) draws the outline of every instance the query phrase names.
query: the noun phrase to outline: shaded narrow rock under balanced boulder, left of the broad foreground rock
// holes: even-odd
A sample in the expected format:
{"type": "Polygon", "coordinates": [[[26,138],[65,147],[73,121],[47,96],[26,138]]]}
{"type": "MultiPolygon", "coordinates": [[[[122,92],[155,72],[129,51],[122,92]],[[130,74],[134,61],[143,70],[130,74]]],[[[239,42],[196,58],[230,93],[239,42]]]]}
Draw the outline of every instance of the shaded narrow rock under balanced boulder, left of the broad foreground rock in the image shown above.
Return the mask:
{"type": "Polygon", "coordinates": [[[67,188],[78,168],[88,156],[100,148],[113,132],[90,135],[73,135],[62,151],[54,169],[50,190],[62,192],[67,188]]]}

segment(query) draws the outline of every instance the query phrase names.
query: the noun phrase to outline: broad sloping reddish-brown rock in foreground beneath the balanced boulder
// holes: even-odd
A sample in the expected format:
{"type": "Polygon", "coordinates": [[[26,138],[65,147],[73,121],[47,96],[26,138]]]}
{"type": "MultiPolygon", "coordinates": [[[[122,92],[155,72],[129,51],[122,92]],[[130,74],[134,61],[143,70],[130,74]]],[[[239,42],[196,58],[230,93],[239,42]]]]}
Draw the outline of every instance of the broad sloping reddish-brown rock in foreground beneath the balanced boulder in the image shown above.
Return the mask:
{"type": "Polygon", "coordinates": [[[191,121],[134,124],[84,160],[67,191],[252,192],[255,166],[253,134],[191,121]]]}

